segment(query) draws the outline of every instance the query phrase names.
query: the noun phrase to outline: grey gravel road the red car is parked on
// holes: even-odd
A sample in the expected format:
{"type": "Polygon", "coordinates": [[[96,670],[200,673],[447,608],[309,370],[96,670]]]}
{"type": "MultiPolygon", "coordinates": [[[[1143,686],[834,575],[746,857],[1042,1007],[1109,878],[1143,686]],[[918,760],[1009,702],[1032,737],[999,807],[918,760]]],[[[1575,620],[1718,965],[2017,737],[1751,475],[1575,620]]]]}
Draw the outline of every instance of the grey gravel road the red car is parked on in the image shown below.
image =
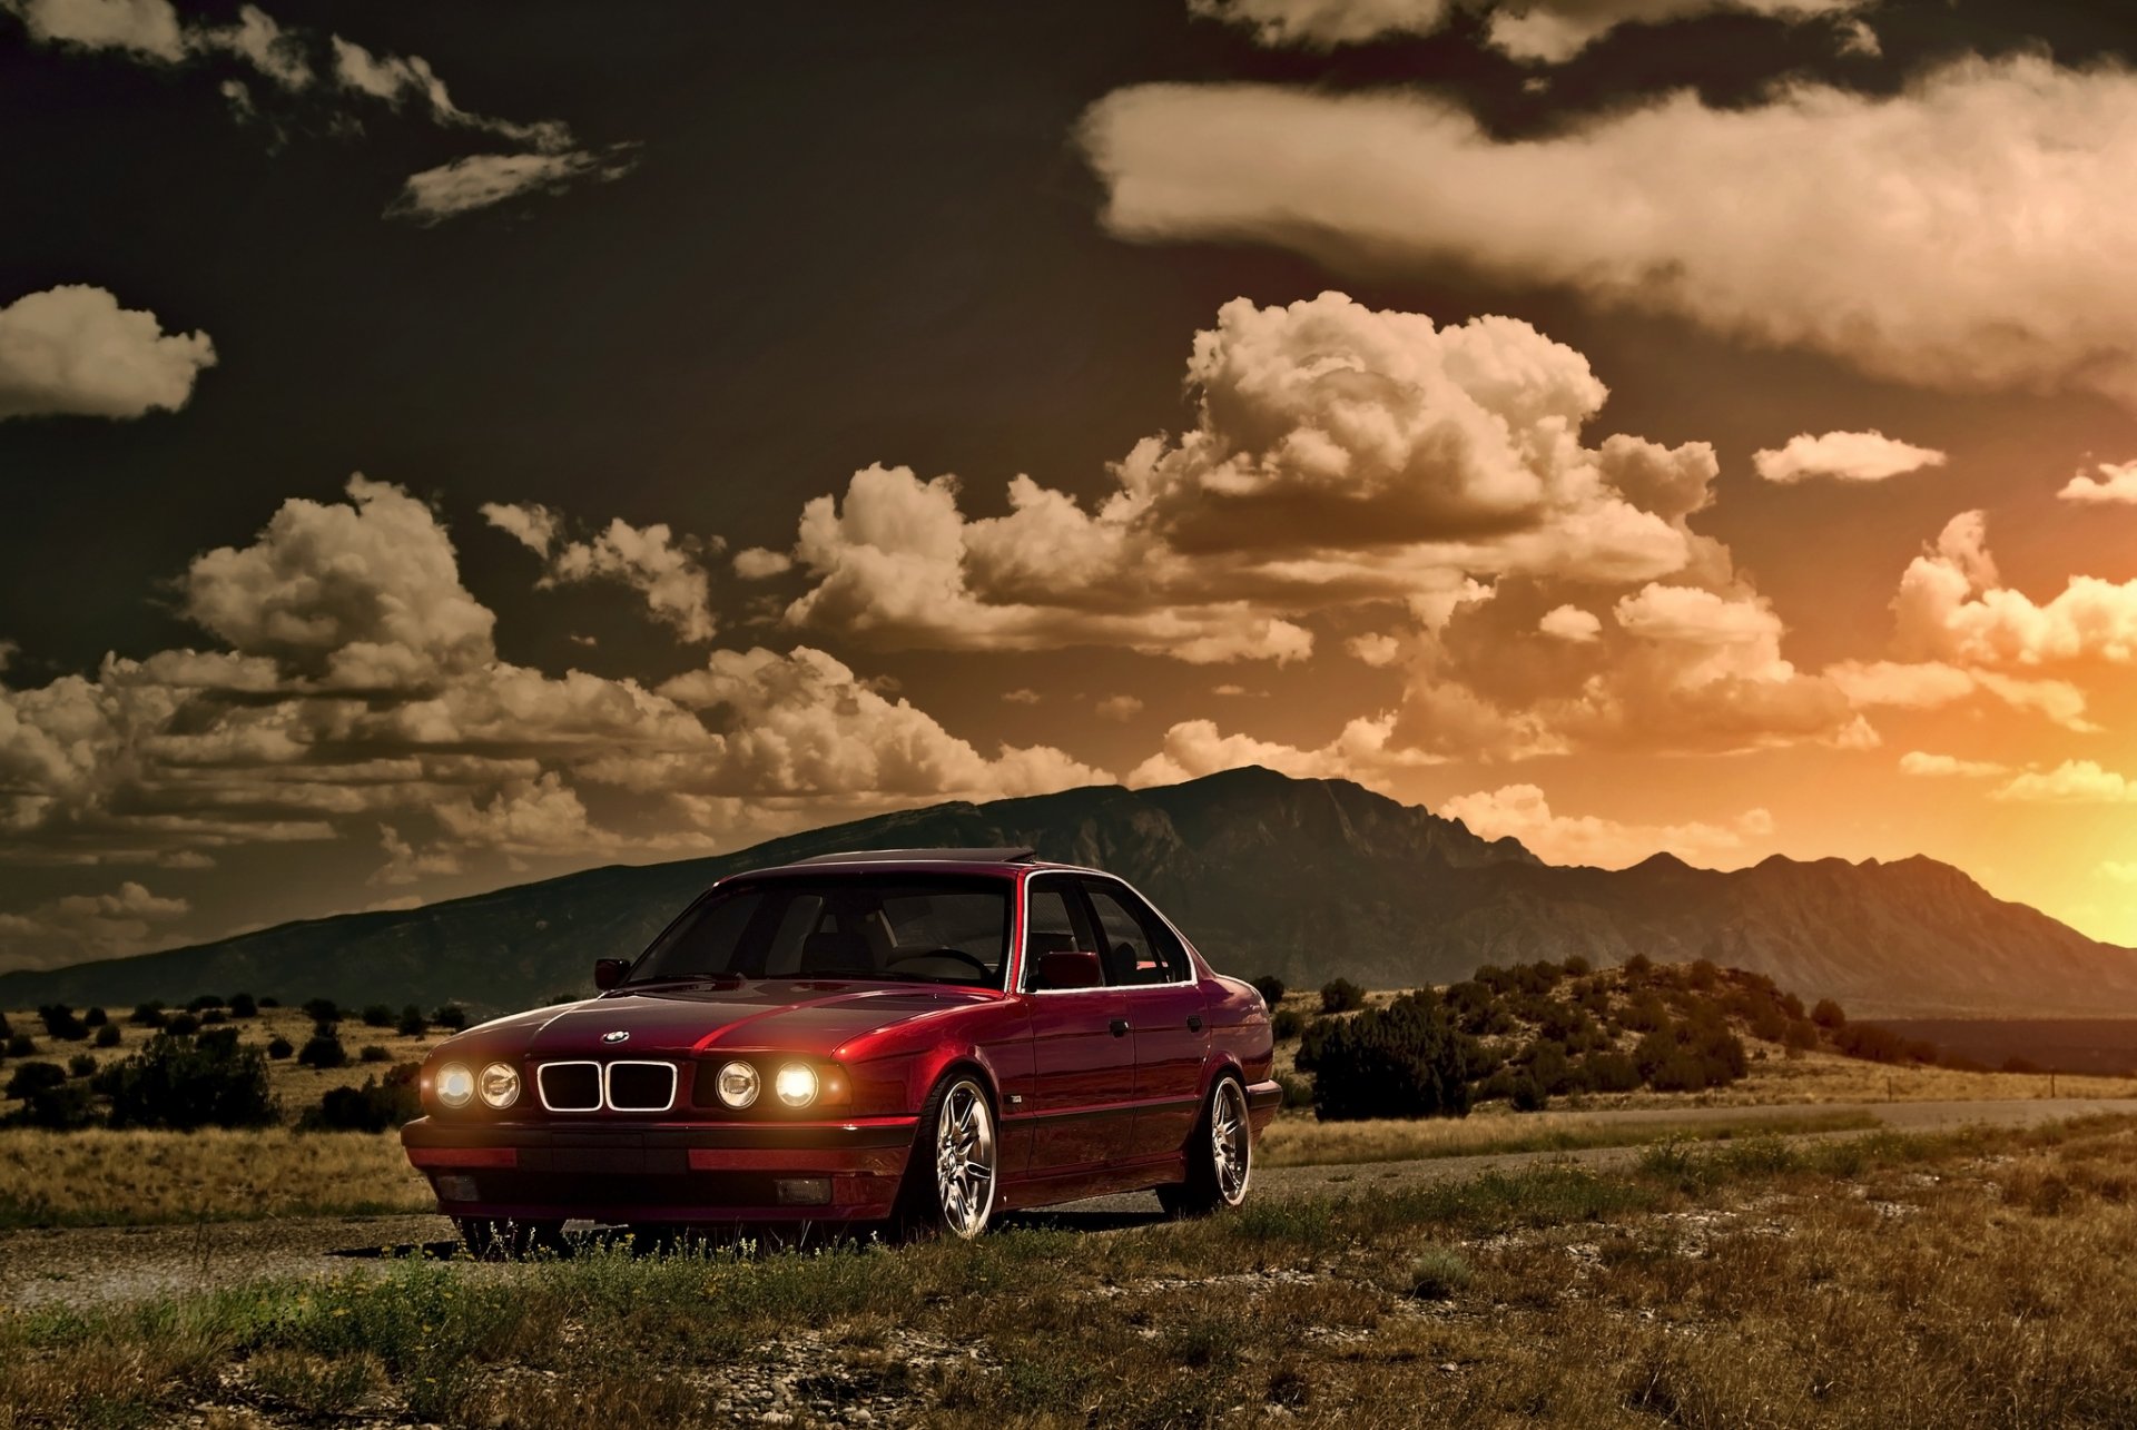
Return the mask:
{"type": "MultiPolygon", "coordinates": [[[[1844,1105],[1712,1107],[1671,1114],[1671,1120],[1742,1122],[1746,1114],[1799,1118],[1853,1112],[1844,1105]]],[[[2137,1103],[2103,1099],[2026,1099],[1996,1103],[1866,1103],[1859,1107],[1885,1126],[1936,1131],[1964,1124],[2037,1126],[2094,1112],[2137,1112],[2137,1103]]],[[[1652,1112],[1598,1114],[1598,1118],[1654,1120],[1652,1112]]],[[[1859,1133],[1808,1133],[1853,1137],[1859,1133]]],[[[1263,1167],[1254,1171],[1257,1197],[1310,1197],[1370,1186],[1408,1186],[1485,1171],[1507,1171],[1545,1161],[1586,1167],[1622,1167],[1639,1148],[1584,1152],[1502,1152],[1489,1156],[1436,1156],[1400,1163],[1344,1163],[1329,1167],[1263,1167]]],[[[1043,1212],[1021,1212],[1007,1225],[1051,1225],[1107,1231],[1158,1221],[1150,1193],[1094,1197],[1043,1212]]],[[[442,1216],[329,1216],[288,1221],[233,1221],[194,1227],[79,1227],[0,1233],[0,1304],[94,1306],[175,1291],[229,1287],[269,1276],[333,1276],[383,1270],[383,1253],[421,1246],[451,1250],[453,1225],[442,1216]]]]}

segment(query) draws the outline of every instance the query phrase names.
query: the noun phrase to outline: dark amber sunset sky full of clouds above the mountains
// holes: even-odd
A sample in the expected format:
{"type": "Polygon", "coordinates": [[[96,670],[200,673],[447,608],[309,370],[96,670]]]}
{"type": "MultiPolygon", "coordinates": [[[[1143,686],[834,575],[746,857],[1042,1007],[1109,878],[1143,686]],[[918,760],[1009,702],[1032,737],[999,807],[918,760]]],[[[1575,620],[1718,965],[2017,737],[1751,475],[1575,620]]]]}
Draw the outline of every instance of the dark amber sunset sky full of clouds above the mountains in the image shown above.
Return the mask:
{"type": "Polygon", "coordinates": [[[1261,763],[2137,945],[2137,17],[0,0],[0,968],[1261,763]]]}

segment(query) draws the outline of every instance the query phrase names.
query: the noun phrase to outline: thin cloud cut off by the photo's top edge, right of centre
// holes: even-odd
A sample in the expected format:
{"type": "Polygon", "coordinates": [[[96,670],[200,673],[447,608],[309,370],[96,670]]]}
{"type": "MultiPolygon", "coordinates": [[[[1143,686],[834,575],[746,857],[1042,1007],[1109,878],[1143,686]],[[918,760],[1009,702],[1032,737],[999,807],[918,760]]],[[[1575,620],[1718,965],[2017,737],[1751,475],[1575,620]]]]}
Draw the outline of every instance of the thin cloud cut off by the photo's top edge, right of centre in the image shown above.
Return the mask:
{"type": "MultiPolygon", "coordinates": [[[[1192,15],[1250,28],[1261,45],[1333,49],[1438,34],[1455,15],[1485,13],[1489,43],[1515,60],[1564,64],[1618,26],[1667,24],[1727,11],[1814,19],[1874,0],[1188,0],[1192,15]]],[[[1874,43],[1876,36],[1872,36],[1874,43]]],[[[1851,34],[1851,47],[1859,38],[1851,34]]],[[[1874,51],[1872,51],[1874,53],[1874,51]]]]}

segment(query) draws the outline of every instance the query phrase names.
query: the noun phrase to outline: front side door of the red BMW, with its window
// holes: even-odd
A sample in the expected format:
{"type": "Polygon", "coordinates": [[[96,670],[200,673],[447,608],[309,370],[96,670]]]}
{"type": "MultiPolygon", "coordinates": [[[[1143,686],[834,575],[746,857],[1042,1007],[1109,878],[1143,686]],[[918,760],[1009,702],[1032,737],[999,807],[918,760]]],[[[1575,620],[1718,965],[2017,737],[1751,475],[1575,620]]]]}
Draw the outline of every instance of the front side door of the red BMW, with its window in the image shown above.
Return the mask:
{"type": "Polygon", "coordinates": [[[1090,911],[1068,874],[1034,874],[1026,893],[1024,992],[1032,1007],[1032,1176],[1126,1156],[1133,1131],[1135,1041],[1120,988],[1039,988],[1049,949],[1096,951],[1090,911]]]}

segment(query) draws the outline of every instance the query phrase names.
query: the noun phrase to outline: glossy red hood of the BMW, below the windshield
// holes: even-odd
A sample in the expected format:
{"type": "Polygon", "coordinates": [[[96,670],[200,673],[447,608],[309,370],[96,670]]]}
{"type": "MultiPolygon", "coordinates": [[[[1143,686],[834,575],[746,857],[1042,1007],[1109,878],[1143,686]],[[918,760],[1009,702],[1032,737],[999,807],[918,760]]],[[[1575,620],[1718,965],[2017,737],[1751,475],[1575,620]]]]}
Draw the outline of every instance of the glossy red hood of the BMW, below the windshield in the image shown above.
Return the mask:
{"type": "Polygon", "coordinates": [[[536,1058],[688,1056],[709,1050],[831,1056],[844,1043],[880,1028],[1000,996],[970,988],[816,979],[767,979],[742,988],[682,983],[536,1009],[487,1024],[483,1032],[498,1041],[513,1041],[517,1035],[526,1054],[536,1058]]]}

